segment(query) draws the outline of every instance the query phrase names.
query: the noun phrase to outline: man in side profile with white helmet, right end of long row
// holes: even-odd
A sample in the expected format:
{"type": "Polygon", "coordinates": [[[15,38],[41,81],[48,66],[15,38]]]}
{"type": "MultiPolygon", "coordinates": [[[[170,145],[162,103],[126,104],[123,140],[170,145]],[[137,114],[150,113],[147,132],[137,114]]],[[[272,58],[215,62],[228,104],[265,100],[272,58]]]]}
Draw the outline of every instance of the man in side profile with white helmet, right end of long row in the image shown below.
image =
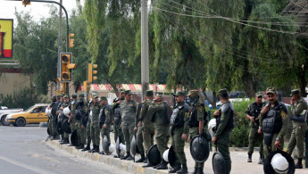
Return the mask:
{"type": "Polygon", "coordinates": [[[226,171],[231,171],[231,158],[229,153],[229,142],[232,128],[234,128],[235,111],[233,105],[229,102],[229,95],[226,88],[218,91],[221,99],[221,109],[214,112],[216,117],[216,132],[212,137],[212,143],[217,145],[218,151],[226,162],[226,171]]]}

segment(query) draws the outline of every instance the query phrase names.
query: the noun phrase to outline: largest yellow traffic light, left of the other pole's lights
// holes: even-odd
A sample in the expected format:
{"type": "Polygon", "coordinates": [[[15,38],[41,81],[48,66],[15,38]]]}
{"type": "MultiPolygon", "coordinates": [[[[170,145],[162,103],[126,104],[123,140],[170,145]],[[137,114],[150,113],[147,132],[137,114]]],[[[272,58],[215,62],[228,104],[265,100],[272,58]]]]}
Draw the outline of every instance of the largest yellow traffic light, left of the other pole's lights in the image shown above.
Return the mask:
{"type": "Polygon", "coordinates": [[[72,79],[71,70],[76,68],[75,63],[71,63],[71,53],[62,53],[61,57],[61,81],[69,82],[72,79]]]}

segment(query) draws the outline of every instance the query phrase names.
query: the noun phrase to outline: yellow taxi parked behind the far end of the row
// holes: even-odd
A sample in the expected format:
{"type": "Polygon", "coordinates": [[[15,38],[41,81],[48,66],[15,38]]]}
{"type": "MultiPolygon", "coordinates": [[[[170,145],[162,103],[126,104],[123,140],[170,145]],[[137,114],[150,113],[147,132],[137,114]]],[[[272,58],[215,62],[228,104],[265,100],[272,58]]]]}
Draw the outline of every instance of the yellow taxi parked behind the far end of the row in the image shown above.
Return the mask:
{"type": "Polygon", "coordinates": [[[12,113],[6,116],[6,121],[15,127],[24,127],[29,123],[47,122],[46,107],[49,104],[35,104],[24,112],[12,113]]]}

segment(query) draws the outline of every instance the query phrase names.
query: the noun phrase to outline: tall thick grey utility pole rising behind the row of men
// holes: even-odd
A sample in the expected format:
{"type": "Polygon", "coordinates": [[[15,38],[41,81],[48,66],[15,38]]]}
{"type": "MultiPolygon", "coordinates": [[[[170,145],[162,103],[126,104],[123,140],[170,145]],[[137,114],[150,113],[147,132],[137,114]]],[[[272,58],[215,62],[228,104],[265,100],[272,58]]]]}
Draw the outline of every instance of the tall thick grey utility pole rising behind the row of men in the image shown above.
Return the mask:
{"type": "Polygon", "coordinates": [[[148,48],[147,0],[141,0],[141,85],[142,100],[149,87],[149,48],[148,48]]]}

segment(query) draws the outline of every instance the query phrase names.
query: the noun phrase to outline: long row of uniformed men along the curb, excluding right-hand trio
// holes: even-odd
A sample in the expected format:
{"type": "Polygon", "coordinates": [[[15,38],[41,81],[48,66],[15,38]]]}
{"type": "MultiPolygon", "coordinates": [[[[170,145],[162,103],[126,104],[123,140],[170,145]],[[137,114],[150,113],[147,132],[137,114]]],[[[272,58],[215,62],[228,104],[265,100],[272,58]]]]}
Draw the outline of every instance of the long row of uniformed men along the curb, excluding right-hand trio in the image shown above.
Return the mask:
{"type": "MultiPolygon", "coordinates": [[[[131,99],[131,91],[120,89],[119,97],[113,101],[112,106],[107,104],[106,97],[98,99],[98,95],[92,95],[92,101],[86,104],[84,95],[63,96],[59,100],[53,100],[50,108],[56,108],[52,112],[49,121],[52,127],[51,139],[58,139],[56,122],[65,122],[67,120],[71,125],[71,132],[77,129],[79,146],[78,149],[91,153],[99,153],[100,133],[102,137],[107,137],[110,141],[110,130],[114,124],[114,141],[126,145],[126,155],[121,160],[133,160],[130,154],[130,143],[133,136],[137,138],[137,148],[141,158],[137,162],[145,162],[143,167],[154,167],[156,170],[167,170],[167,164],[163,158],[162,162],[153,166],[149,162],[148,152],[154,145],[154,136],[156,145],[161,156],[168,150],[168,142],[171,137],[171,146],[176,156],[176,165],[172,166],[170,173],[187,173],[187,159],[184,153],[186,141],[190,141],[196,135],[206,137],[207,112],[204,104],[199,102],[199,91],[191,90],[188,93],[190,105],[185,103],[185,92],[177,92],[175,97],[175,106],[173,111],[171,106],[163,102],[162,95],[154,95],[152,90],[146,91],[146,100],[142,104],[137,104],[131,99]],[[70,114],[65,113],[65,108],[70,109],[70,114]],[[82,111],[83,113],[80,113],[82,111]],[[83,118],[87,118],[85,121],[83,118]],[[63,116],[66,115],[66,116],[63,116]],[[81,115],[81,117],[79,116],[81,115]],[[78,118],[78,116],[80,118],[78,118]],[[87,146],[86,145],[87,139],[87,146]],[[93,148],[90,149],[92,141],[93,148]]],[[[217,131],[212,142],[217,146],[225,158],[227,168],[230,170],[231,161],[229,157],[229,137],[233,128],[234,108],[229,103],[229,96],[226,89],[219,91],[222,102],[222,110],[214,113],[214,116],[220,120],[217,125],[217,131]]],[[[53,98],[54,99],[54,98],[53,98]]],[[[59,123],[58,123],[59,124],[59,123]]],[[[59,129],[59,128],[58,128],[59,129]]],[[[59,132],[59,131],[58,131],[59,132]]],[[[211,139],[208,139],[211,140],[211,139]]],[[[69,144],[69,134],[63,133],[60,144],[69,144]]],[[[104,152],[101,152],[104,154],[104,152]]],[[[115,158],[120,156],[115,155],[115,158]]],[[[196,162],[194,173],[204,173],[204,162],[196,162]]]]}

